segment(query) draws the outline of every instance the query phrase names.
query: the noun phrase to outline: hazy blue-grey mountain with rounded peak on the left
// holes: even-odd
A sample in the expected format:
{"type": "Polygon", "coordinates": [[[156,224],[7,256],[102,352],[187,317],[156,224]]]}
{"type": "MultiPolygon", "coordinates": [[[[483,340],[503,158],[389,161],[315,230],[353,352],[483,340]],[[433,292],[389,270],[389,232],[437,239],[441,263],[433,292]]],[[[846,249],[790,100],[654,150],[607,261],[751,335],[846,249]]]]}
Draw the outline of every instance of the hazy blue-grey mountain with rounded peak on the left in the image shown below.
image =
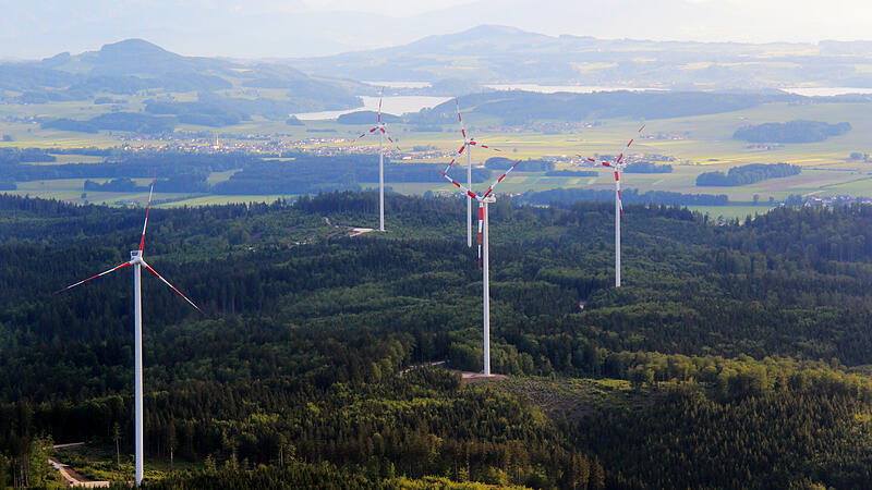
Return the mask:
{"type": "MultiPolygon", "coordinates": [[[[100,95],[147,95],[160,114],[218,123],[257,114],[284,120],[288,113],[360,107],[352,83],[310,77],[287,64],[184,57],[142,39],[126,39],[81,54],[0,63],[1,95],[14,102],[89,100],[100,95]],[[177,93],[197,93],[199,106],[175,102],[177,93]],[[244,97],[241,97],[244,96],[244,97]],[[208,106],[208,107],[207,107],[208,106]],[[205,109],[209,118],[192,110],[205,109]]],[[[184,121],[185,118],[182,118],[184,121]]]]}

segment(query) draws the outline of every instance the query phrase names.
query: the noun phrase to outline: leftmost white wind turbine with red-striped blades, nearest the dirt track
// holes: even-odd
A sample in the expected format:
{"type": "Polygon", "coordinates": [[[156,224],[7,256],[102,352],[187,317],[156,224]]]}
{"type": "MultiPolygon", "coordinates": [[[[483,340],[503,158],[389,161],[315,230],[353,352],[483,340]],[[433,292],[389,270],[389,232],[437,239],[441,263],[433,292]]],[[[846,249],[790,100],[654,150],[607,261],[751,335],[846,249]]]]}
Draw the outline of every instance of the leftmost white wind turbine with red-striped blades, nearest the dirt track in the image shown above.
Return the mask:
{"type": "Polygon", "coordinates": [[[119,269],[123,269],[125,267],[133,266],[133,318],[134,318],[134,336],[135,336],[135,347],[134,347],[134,412],[135,412],[135,426],[136,426],[136,487],[142,485],[143,481],[143,456],[144,456],[144,427],[143,427],[143,305],[142,305],[142,289],[140,285],[141,277],[142,277],[142,268],[145,267],[145,270],[152,272],[157,279],[159,279],[164,284],[167,284],[172,289],[172,291],[177,292],[179,296],[182,296],[184,301],[186,301],[191,306],[196,308],[197,311],[205,315],[199,306],[195,305],[194,302],[187,298],[181,291],[175,289],[174,285],[170,284],[169,281],[164,279],[152,266],[149,266],[144,259],[143,254],[145,253],[145,228],[148,225],[148,211],[152,209],[152,196],[155,192],[155,180],[152,180],[152,191],[148,193],[148,207],[145,209],[145,222],[143,223],[143,236],[140,240],[140,248],[135,250],[131,250],[130,253],[130,260],[123,262],[119,266],[116,266],[107,271],[100,272],[97,275],[92,275],[84,281],[78,281],[75,284],[70,284],[69,286],[57,291],[57,293],[62,293],[64,291],[71,290],[77,285],[84,284],[92,279],[97,279],[100,275],[106,275],[109,272],[114,272],[119,269]]]}

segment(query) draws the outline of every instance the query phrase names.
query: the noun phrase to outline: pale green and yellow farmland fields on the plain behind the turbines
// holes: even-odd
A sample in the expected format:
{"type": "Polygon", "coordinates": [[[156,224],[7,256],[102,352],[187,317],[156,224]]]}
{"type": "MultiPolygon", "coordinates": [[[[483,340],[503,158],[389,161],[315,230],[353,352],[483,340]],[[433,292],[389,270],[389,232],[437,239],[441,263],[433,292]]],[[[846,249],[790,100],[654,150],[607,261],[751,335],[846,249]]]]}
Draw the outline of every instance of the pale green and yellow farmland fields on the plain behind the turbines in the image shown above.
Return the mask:
{"type": "MultiPolygon", "coordinates": [[[[180,100],[190,98],[190,94],[175,94],[180,100]]],[[[131,97],[128,106],[140,108],[143,98],[131,97]]],[[[862,160],[850,160],[851,152],[869,152],[872,148],[872,120],[868,114],[869,107],[863,103],[768,103],[753,109],[726,112],[719,114],[637,121],[614,119],[597,121],[596,125],[573,132],[545,134],[532,131],[507,131],[500,127],[499,121],[489,118],[477,118],[472,113],[464,118],[470,132],[482,143],[501,149],[500,152],[474,148],[473,164],[479,166],[485,159],[501,156],[509,159],[549,158],[556,162],[556,169],[591,170],[582,156],[616,155],[626,142],[635,135],[639,126],[645,128],[631,148],[635,155],[659,155],[670,158],[671,173],[642,174],[632,173],[622,176],[623,188],[635,188],[640,193],[646,191],[666,191],[683,194],[725,194],[735,205],[750,204],[756,196],[761,203],[770,199],[783,201],[789,195],[850,195],[872,196],[872,163],[862,160]],[[828,123],[850,122],[852,131],[825,142],[786,145],[749,145],[732,139],[732,133],[743,125],[764,122],[784,122],[790,120],[816,120],[828,123]],[[787,162],[802,168],[799,175],[773,179],[755,184],[736,187],[698,187],[695,179],[700,173],[708,171],[726,171],[731,167],[748,163],[787,162]]],[[[61,131],[40,130],[38,124],[9,122],[10,117],[23,117],[34,113],[51,117],[93,115],[98,108],[86,103],[53,103],[36,106],[7,106],[0,115],[0,134],[12,136],[12,142],[0,145],[17,147],[73,148],[73,147],[111,147],[121,145],[161,146],[161,140],[128,140],[123,133],[81,134],[61,131]]],[[[441,126],[440,132],[415,132],[414,126],[393,124],[390,130],[400,146],[399,155],[403,161],[445,164],[451,158],[462,139],[455,125],[441,126]],[[415,147],[427,147],[431,151],[413,151],[415,147]],[[435,151],[433,151],[435,149],[435,151]]],[[[244,123],[219,130],[202,126],[180,126],[180,131],[221,135],[221,144],[233,145],[245,142],[250,135],[272,135],[272,139],[299,142],[299,147],[308,150],[335,149],[336,151],[370,151],[377,148],[375,139],[358,139],[361,131],[356,125],[338,124],[336,121],[306,121],[304,126],[289,126],[283,122],[253,118],[244,123]]],[[[392,148],[391,151],[397,151],[392,148]]],[[[397,155],[396,152],[393,155],[397,155]]],[[[93,163],[101,161],[99,157],[60,155],[57,162],[93,163]]],[[[453,175],[464,180],[465,158],[459,160],[453,175]]],[[[435,172],[436,169],[434,169],[435,172]]],[[[597,176],[545,176],[544,172],[517,172],[501,185],[506,193],[541,192],[552,188],[584,187],[590,189],[609,189],[614,187],[611,173],[600,168],[597,176]]],[[[209,175],[208,184],[228,180],[238,170],[216,172],[209,175]]],[[[497,174],[495,173],[494,176],[497,174]]],[[[55,197],[64,200],[81,200],[81,180],[38,181],[19,184],[17,194],[39,197],[55,197]]],[[[361,183],[362,188],[375,188],[376,183],[361,183]]],[[[449,183],[390,183],[390,174],[386,175],[386,185],[393,192],[402,194],[423,194],[427,191],[452,192],[456,188],[449,183]]],[[[481,184],[484,185],[484,184],[481,184]]],[[[143,201],[143,193],[111,193],[107,196],[88,196],[92,203],[116,204],[119,201],[143,201]]],[[[204,195],[166,195],[162,199],[171,200],[164,206],[197,206],[204,204],[240,203],[251,200],[274,200],[277,195],[249,196],[204,196],[204,195]]],[[[730,206],[720,212],[718,209],[705,209],[713,216],[737,216],[738,211],[730,206]]],[[[754,208],[761,209],[761,208],[754,208]]]]}

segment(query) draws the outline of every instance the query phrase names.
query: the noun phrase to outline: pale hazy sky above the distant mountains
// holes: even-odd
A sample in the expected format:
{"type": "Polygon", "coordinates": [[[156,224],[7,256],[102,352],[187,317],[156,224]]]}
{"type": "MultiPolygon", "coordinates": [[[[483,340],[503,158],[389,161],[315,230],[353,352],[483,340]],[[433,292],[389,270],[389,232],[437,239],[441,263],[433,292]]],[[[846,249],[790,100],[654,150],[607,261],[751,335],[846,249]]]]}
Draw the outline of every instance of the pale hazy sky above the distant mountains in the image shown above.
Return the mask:
{"type": "Polygon", "coordinates": [[[869,0],[0,0],[0,58],[140,37],[182,54],[307,57],[481,24],[702,41],[872,39],[869,0]]]}

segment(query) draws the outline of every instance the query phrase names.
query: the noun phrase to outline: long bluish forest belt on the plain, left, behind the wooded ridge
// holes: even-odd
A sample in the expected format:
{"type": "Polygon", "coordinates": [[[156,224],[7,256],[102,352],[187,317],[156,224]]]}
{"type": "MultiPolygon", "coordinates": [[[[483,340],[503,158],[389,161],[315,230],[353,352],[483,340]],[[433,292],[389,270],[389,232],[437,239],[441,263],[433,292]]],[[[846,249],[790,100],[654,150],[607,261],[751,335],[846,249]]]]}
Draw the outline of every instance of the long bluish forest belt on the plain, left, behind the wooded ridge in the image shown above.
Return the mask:
{"type": "MultiPolygon", "coordinates": [[[[83,191],[131,191],[132,179],[157,175],[161,192],[217,194],[306,194],[335,189],[360,189],[361,184],[378,182],[378,156],[316,156],[283,151],[253,157],[244,152],[197,155],[190,152],[155,152],[145,155],[95,155],[105,157],[99,163],[31,164],[34,159],[56,158],[43,150],[11,149],[0,154],[0,185],[15,188],[15,182],[55,179],[111,179],[109,183],[86,182],[83,191]],[[7,157],[7,158],[3,158],[7,157]],[[286,160],[276,160],[275,158],[286,160]],[[179,164],[179,162],[184,164],[179,164]],[[213,172],[239,170],[230,179],[210,184],[213,172]]],[[[90,154],[81,149],[84,155],[90,154]]],[[[43,161],[43,160],[40,160],[43,161]]],[[[50,160],[49,160],[50,161],[50,160]]],[[[447,163],[447,162],[446,162],[447,163]]],[[[513,161],[500,167],[500,172],[513,161]]],[[[530,168],[538,168],[530,160],[530,168]]],[[[552,164],[553,166],[553,164],[552,164]]],[[[426,163],[392,162],[385,158],[385,176],[389,182],[445,182],[436,167],[426,163]]],[[[492,171],[475,168],[473,182],[489,179],[492,171]]],[[[1,187],[0,187],[1,188],[1,187]]]]}

